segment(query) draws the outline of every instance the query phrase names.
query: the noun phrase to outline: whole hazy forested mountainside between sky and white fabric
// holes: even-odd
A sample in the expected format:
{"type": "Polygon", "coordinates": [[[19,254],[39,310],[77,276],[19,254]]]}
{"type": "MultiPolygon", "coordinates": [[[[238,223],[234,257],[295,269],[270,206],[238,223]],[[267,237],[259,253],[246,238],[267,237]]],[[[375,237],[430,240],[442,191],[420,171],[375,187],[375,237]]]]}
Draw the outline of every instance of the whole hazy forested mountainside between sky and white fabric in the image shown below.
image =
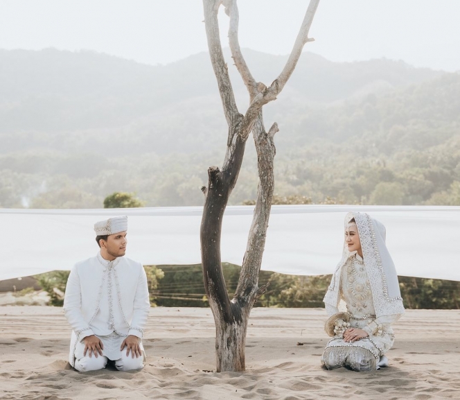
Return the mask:
{"type": "MultiPolygon", "coordinates": [[[[283,56],[245,51],[269,83],[283,56]]],[[[229,61],[240,104],[247,95],[229,61]]],[[[313,202],[460,205],[460,74],[306,53],[278,101],[276,192],[313,202]]],[[[0,207],[202,205],[227,128],[209,56],[148,66],[91,52],[0,51],[0,207]]],[[[254,146],[231,202],[255,198],[254,146]]]]}

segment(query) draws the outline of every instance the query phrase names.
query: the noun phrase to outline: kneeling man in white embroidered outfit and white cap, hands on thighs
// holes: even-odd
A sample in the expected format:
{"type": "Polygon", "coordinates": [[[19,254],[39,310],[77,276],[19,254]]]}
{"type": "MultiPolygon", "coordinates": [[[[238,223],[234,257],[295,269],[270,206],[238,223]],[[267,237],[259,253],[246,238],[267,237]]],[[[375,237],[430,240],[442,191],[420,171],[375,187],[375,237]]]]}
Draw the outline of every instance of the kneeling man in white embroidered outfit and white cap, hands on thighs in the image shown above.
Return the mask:
{"type": "Polygon", "coordinates": [[[80,372],[141,369],[142,336],[150,308],[141,263],[125,258],[127,216],[94,225],[100,252],[73,266],[67,281],[64,313],[71,324],[69,362],[80,372]]]}

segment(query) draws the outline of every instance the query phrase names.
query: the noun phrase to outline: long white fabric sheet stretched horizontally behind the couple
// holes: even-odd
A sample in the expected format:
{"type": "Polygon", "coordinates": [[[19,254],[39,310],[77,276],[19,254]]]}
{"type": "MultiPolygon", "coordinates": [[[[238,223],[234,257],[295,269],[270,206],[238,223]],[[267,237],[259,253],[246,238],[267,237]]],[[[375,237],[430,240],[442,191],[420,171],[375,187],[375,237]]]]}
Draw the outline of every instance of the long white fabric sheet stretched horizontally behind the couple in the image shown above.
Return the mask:
{"type": "MultiPolygon", "coordinates": [[[[241,265],[254,207],[227,207],[222,261],[241,265]]],[[[263,270],[296,275],[333,272],[348,211],[369,212],[387,227],[398,275],[460,281],[460,207],[274,206],[263,270]]],[[[202,207],[0,209],[0,280],[69,270],[94,256],[93,225],[128,216],[127,256],[144,265],[200,263],[202,207]]]]}

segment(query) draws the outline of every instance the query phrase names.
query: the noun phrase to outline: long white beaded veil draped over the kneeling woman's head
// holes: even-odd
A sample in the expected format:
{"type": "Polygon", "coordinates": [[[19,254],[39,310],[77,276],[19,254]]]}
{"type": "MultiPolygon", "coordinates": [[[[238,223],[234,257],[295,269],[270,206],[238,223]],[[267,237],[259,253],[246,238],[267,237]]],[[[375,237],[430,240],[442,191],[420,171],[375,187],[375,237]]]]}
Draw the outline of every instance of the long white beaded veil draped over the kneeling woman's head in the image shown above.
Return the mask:
{"type": "MultiPolygon", "coordinates": [[[[371,285],[375,315],[393,315],[404,312],[398,275],[393,260],[385,244],[386,229],[378,220],[366,213],[351,212],[346,214],[345,226],[355,218],[358,234],[360,235],[362,255],[367,277],[371,285]]],[[[342,266],[354,252],[348,252],[344,243],[342,260],[337,265],[330,286],[324,296],[324,302],[337,307],[339,303],[339,282],[342,266]]]]}

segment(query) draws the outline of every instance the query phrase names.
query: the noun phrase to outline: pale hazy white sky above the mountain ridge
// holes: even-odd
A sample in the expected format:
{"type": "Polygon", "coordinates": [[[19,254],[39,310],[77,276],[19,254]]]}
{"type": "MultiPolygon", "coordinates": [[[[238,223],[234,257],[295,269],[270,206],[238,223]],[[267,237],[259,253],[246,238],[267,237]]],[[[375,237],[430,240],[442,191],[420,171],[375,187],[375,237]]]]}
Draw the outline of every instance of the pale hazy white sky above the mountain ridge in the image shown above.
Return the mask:
{"type": "MultiPolygon", "coordinates": [[[[238,4],[242,47],[290,52],[308,0],[238,4]]],[[[460,71],[459,15],[460,0],[321,0],[306,50],[460,71]]],[[[201,0],[0,0],[0,49],[88,49],[165,64],[206,50],[202,20],[201,0]]],[[[223,12],[221,21],[226,39],[223,12]]]]}

